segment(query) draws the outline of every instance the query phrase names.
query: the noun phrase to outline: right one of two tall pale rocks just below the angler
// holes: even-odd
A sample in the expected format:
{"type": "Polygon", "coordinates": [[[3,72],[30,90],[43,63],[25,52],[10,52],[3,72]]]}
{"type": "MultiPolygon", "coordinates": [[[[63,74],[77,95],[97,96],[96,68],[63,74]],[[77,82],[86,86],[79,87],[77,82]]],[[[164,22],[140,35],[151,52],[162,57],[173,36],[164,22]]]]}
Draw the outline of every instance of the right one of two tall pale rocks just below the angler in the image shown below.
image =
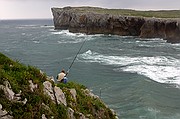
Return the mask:
{"type": "Polygon", "coordinates": [[[66,97],[65,97],[64,93],[62,92],[62,90],[59,87],[55,86],[54,92],[55,92],[55,96],[57,99],[57,103],[67,106],[66,97]]]}

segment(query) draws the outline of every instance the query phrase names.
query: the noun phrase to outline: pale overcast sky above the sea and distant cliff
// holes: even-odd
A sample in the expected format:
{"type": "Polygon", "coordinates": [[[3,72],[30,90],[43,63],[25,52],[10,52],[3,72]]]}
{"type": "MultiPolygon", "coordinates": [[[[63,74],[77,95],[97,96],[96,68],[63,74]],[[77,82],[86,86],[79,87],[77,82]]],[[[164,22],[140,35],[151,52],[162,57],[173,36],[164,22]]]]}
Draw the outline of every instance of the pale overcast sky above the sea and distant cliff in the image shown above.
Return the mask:
{"type": "Polygon", "coordinates": [[[180,0],[0,0],[0,19],[52,18],[51,7],[65,6],[180,10],[180,0]]]}

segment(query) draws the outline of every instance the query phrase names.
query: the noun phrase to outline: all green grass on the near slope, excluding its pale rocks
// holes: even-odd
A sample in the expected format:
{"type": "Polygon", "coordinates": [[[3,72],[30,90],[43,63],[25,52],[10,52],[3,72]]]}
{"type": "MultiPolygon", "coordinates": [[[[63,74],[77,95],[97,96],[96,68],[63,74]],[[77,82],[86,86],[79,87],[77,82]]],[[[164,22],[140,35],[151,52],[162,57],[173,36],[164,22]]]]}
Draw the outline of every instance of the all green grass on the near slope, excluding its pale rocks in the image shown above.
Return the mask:
{"type": "MultiPolygon", "coordinates": [[[[5,80],[8,80],[15,93],[22,91],[22,100],[27,98],[25,105],[12,102],[6,99],[4,92],[0,90],[0,104],[3,108],[9,111],[15,119],[39,119],[42,114],[47,118],[54,117],[55,119],[67,119],[67,107],[63,105],[55,105],[49,97],[43,94],[43,82],[46,80],[46,75],[41,74],[40,70],[32,66],[25,66],[18,62],[14,62],[5,55],[0,53],[0,85],[5,80]],[[32,92],[29,88],[28,80],[33,80],[33,83],[38,84],[38,88],[32,92]],[[50,110],[42,106],[42,103],[47,105],[50,110]]],[[[63,92],[65,92],[68,107],[75,110],[75,116],[78,117],[77,112],[83,114],[91,114],[90,118],[95,118],[95,113],[102,108],[105,110],[104,114],[110,118],[115,118],[110,109],[98,99],[88,97],[83,93],[85,89],[83,85],[69,82],[67,84],[58,84],[63,92]],[[74,101],[70,96],[70,88],[75,88],[77,92],[77,101],[74,101]]]]}

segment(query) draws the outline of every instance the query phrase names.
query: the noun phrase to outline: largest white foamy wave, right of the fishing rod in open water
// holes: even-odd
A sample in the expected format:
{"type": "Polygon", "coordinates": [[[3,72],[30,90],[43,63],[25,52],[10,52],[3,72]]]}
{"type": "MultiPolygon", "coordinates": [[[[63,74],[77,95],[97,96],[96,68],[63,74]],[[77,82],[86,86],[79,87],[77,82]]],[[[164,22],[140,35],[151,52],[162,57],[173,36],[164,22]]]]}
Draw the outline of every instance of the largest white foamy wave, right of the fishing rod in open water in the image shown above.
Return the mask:
{"type": "Polygon", "coordinates": [[[170,56],[109,56],[88,50],[80,54],[79,59],[84,62],[113,65],[115,71],[137,73],[159,83],[180,85],[180,60],[170,56]]]}

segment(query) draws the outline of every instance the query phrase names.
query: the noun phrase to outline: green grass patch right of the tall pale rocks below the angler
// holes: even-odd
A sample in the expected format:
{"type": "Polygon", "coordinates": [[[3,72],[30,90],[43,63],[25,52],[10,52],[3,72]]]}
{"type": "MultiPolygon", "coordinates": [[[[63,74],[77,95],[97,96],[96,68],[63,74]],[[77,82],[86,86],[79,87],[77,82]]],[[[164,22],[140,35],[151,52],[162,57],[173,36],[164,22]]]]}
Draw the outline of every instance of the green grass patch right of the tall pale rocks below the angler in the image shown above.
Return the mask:
{"type": "MultiPolygon", "coordinates": [[[[86,89],[85,86],[76,84],[75,82],[69,82],[67,84],[58,84],[57,86],[61,87],[63,92],[66,94],[68,107],[71,107],[76,112],[81,112],[83,114],[91,114],[90,118],[96,117],[98,111],[104,110],[105,115],[111,115],[110,117],[114,119],[115,116],[112,114],[109,108],[106,108],[105,105],[102,103],[102,101],[99,98],[93,98],[90,96],[87,96],[84,92],[86,89]],[[77,93],[77,101],[75,101],[70,94],[69,89],[74,88],[77,93]]],[[[78,114],[77,114],[78,115],[78,114]]],[[[97,117],[96,117],[97,118],[97,117]]]]}

